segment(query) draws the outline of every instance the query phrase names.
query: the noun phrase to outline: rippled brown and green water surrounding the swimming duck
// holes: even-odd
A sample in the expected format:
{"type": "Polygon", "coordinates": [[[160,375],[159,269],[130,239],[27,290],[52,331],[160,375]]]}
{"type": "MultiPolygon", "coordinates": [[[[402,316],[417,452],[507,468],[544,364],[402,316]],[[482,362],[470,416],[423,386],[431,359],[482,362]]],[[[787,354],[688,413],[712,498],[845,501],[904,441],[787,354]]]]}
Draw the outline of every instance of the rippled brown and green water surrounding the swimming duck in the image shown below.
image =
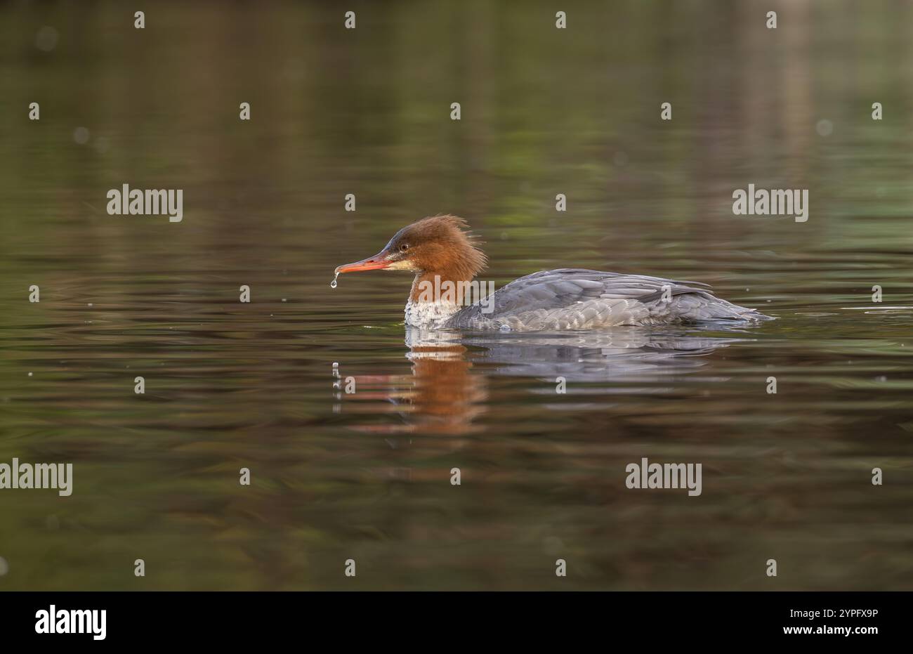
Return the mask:
{"type": "Polygon", "coordinates": [[[0,588],[909,588],[911,34],[909,2],[0,4],[0,461],[75,468],[0,491],[0,588]],[[750,183],[808,222],[733,216],[750,183]],[[109,216],[122,184],[183,222],[109,216]],[[406,342],[407,277],[331,273],[436,213],[498,285],[780,320],[406,342]],[[703,494],[628,491],[643,456],[703,494]]]}

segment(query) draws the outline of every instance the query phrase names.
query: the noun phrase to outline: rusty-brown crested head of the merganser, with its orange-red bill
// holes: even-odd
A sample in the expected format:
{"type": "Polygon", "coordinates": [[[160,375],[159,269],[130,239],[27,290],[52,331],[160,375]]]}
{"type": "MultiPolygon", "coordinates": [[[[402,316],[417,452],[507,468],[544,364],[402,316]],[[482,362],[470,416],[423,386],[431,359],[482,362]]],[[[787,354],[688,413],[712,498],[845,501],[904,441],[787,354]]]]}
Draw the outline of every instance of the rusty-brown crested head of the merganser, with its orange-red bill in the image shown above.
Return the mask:
{"type": "Polygon", "coordinates": [[[472,280],[486,266],[485,253],[458,216],[430,216],[400,229],[373,257],[340,266],[337,272],[411,270],[450,280],[472,280]]]}

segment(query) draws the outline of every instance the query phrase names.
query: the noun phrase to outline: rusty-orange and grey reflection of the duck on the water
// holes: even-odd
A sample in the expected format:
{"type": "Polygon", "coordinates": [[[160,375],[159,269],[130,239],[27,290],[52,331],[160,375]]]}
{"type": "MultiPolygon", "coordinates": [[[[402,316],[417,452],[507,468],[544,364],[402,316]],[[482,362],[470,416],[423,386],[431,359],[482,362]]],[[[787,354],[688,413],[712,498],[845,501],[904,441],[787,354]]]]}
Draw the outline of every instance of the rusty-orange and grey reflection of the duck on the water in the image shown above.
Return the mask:
{"type": "MultiPolygon", "coordinates": [[[[561,410],[598,409],[594,396],[667,393],[707,365],[708,354],[750,338],[749,332],[730,328],[729,333],[731,337],[721,338],[701,335],[699,328],[668,327],[555,334],[409,328],[405,343],[412,374],[361,377],[370,380],[371,391],[355,397],[393,403],[399,421],[356,428],[391,435],[471,433],[481,428],[475,421],[488,409],[493,375],[538,380],[530,393],[554,397],[561,410]],[[557,390],[559,378],[566,385],[563,396],[557,390]],[[569,396],[591,401],[573,403],[569,396]]],[[[397,441],[390,442],[396,447],[397,441]]],[[[455,442],[450,446],[458,447],[455,442]]]]}

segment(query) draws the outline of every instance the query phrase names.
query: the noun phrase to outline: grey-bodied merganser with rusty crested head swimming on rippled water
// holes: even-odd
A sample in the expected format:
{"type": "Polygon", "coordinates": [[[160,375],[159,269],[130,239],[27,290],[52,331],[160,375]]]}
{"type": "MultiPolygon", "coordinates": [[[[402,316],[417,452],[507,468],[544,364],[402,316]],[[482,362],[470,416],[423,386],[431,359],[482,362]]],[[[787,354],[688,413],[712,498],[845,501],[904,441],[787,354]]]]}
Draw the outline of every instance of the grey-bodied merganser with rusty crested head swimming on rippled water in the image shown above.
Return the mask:
{"type": "Polygon", "coordinates": [[[771,320],[754,309],[720,300],[707,284],[567,268],[521,277],[484,300],[464,306],[462,292],[455,297],[428,291],[471,288],[468,282],[485,268],[485,254],[465,227],[466,221],[457,216],[423,218],[396,232],[378,254],[340,266],[336,275],[359,270],[414,272],[405,322],[429,330],[541,332],[771,320]]]}

